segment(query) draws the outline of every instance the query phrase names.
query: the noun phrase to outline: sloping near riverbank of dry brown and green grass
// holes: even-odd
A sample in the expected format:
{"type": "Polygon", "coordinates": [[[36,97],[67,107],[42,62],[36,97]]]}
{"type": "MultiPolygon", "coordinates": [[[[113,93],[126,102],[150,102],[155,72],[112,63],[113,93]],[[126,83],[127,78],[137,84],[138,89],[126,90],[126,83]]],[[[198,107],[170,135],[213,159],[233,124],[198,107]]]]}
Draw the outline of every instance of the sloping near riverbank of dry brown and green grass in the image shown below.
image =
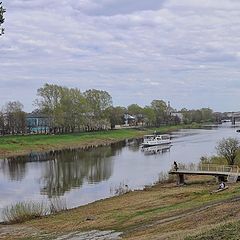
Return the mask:
{"type": "Polygon", "coordinates": [[[210,194],[216,188],[211,177],[189,177],[182,187],[157,184],[24,224],[0,225],[0,239],[56,239],[92,230],[122,232],[131,240],[239,239],[239,183],[210,194]]]}

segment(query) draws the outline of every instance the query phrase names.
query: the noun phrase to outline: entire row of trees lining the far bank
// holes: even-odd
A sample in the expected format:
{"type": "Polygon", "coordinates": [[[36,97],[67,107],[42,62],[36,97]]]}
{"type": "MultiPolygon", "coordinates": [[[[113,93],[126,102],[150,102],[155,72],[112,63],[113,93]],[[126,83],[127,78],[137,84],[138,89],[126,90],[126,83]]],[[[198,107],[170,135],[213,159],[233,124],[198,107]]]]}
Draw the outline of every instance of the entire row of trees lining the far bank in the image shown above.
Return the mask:
{"type": "MultiPolygon", "coordinates": [[[[210,108],[176,111],[163,100],[153,100],[149,106],[131,104],[127,108],[114,107],[111,95],[102,90],[91,89],[81,92],[45,84],[37,90],[33,114],[47,119],[45,132],[70,133],[113,129],[116,125],[159,127],[163,124],[201,123],[219,121],[219,114],[210,108]]],[[[33,115],[32,114],[32,115],[33,115]]],[[[0,134],[31,132],[28,114],[19,101],[6,103],[0,111],[0,134]]]]}

